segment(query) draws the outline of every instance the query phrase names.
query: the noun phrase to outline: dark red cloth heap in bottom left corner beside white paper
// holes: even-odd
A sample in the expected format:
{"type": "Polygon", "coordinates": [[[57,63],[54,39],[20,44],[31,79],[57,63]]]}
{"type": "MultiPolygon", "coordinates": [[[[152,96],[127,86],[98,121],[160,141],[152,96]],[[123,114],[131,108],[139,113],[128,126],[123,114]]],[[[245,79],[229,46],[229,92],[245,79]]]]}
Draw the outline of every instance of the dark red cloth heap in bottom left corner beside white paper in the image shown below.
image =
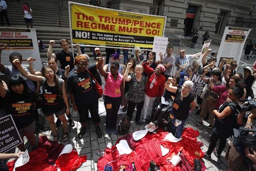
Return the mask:
{"type": "MultiPolygon", "coordinates": [[[[56,166],[47,163],[47,150],[44,148],[37,148],[29,153],[29,162],[25,165],[16,168],[16,171],[57,171],[56,166]]],[[[8,162],[9,171],[13,171],[16,160],[8,162]]]]}

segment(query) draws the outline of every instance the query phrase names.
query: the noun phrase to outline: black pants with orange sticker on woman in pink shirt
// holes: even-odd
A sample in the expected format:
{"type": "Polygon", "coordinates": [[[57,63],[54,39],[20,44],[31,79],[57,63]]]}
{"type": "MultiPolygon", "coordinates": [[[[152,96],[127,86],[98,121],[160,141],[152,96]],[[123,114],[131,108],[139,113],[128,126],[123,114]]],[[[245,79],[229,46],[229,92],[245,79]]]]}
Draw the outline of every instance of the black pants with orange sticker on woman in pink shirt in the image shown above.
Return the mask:
{"type": "Polygon", "coordinates": [[[117,113],[121,104],[121,97],[105,96],[104,105],[106,109],[106,128],[116,129],[117,113]]]}

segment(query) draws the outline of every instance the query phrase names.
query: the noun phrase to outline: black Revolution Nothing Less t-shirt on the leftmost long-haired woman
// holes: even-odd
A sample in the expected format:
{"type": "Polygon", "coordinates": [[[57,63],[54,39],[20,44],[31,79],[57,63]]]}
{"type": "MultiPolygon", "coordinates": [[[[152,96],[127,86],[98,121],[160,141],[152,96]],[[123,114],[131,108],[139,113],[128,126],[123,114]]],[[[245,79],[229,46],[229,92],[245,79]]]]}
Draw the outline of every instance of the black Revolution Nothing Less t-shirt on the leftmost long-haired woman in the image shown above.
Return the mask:
{"type": "Polygon", "coordinates": [[[7,102],[5,110],[7,115],[12,115],[15,125],[18,129],[30,125],[34,120],[34,102],[35,93],[30,92],[26,95],[10,95],[7,90],[4,100],[7,102]]]}

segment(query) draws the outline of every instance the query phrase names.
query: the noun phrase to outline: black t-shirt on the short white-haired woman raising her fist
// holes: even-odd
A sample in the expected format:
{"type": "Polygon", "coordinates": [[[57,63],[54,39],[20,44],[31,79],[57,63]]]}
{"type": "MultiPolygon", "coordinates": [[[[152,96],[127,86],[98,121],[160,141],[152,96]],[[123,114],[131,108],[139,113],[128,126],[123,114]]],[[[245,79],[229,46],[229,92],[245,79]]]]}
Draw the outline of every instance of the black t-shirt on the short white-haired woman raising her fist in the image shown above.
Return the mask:
{"type": "Polygon", "coordinates": [[[189,93],[188,96],[183,97],[183,100],[180,100],[181,97],[181,88],[177,88],[176,98],[172,105],[172,114],[179,120],[184,120],[189,116],[189,107],[190,103],[195,100],[195,96],[192,93],[189,93]]]}

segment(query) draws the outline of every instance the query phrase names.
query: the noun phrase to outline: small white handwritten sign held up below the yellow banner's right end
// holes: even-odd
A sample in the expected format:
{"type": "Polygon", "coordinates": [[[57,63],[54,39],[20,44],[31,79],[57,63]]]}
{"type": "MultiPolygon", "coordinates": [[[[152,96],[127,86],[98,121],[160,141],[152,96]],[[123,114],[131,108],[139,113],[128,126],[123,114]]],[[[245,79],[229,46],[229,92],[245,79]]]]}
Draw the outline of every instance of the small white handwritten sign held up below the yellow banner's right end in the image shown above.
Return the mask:
{"type": "Polygon", "coordinates": [[[163,55],[166,52],[166,46],[168,45],[168,38],[154,37],[153,52],[156,52],[156,61],[160,61],[160,53],[163,55]]]}

